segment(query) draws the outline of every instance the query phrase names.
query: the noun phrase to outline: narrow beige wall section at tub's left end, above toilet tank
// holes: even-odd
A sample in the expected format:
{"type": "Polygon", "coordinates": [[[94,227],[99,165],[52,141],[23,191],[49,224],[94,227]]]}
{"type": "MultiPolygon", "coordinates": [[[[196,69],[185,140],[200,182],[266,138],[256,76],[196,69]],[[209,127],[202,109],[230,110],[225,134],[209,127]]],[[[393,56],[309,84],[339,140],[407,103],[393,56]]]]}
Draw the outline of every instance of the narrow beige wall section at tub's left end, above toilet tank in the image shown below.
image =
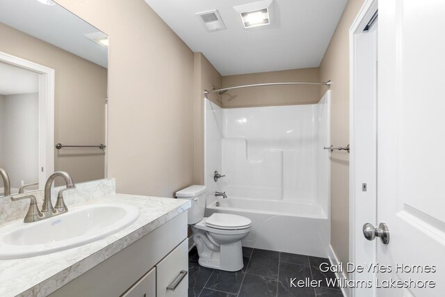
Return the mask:
{"type": "MultiPolygon", "coordinates": [[[[195,81],[193,103],[193,183],[204,184],[204,90],[212,90],[213,86],[221,86],[221,74],[201,54],[195,53],[195,81]]],[[[212,102],[221,106],[220,96],[215,93],[208,95],[212,102]]]]}

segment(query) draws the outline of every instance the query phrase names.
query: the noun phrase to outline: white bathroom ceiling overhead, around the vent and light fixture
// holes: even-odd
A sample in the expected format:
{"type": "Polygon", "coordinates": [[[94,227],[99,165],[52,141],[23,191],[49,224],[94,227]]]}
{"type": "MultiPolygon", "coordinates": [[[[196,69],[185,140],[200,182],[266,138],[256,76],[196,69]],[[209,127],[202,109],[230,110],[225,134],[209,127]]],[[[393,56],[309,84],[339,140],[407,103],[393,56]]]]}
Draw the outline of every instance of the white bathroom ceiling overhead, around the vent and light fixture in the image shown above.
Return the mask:
{"type": "Polygon", "coordinates": [[[274,0],[275,22],[243,29],[233,6],[257,0],[145,0],[222,74],[318,67],[348,0],[274,0]],[[226,30],[208,32],[195,13],[217,9],[226,30]]]}

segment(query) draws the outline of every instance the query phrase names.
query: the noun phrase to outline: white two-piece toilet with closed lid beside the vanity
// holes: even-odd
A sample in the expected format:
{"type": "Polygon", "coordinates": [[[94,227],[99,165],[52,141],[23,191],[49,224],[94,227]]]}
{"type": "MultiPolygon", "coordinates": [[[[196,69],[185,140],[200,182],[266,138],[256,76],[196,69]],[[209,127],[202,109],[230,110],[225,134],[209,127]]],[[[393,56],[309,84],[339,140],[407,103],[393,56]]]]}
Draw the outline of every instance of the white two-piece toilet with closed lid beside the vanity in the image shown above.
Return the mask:
{"type": "Polygon", "coordinates": [[[241,239],[250,232],[252,221],[244,216],[220,213],[204,218],[206,186],[189,186],[176,192],[176,197],[191,200],[188,225],[193,231],[200,265],[223,271],[243,268],[241,239]]]}

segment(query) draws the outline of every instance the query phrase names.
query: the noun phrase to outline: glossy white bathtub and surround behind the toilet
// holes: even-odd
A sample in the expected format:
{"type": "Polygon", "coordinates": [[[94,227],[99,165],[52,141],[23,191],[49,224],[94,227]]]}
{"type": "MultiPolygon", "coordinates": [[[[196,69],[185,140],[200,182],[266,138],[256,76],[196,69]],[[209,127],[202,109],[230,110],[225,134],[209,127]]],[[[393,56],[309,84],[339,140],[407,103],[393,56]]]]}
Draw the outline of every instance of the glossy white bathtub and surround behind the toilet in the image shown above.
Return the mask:
{"type": "Polygon", "coordinates": [[[252,220],[243,246],[326,257],[330,91],[318,104],[221,109],[205,101],[207,213],[252,220]],[[213,181],[213,172],[225,177],[213,181]],[[218,198],[215,191],[227,194],[218,198]]]}

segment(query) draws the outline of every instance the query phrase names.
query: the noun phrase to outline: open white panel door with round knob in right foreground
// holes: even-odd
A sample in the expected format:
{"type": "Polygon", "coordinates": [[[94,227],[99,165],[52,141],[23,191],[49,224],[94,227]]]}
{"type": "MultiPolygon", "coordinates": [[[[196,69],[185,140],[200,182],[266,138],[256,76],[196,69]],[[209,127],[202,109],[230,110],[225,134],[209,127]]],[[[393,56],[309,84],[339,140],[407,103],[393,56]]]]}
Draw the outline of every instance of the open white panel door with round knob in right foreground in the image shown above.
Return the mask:
{"type": "Polygon", "coordinates": [[[390,238],[376,240],[391,272],[377,278],[414,282],[378,296],[445,296],[444,28],[444,0],[379,1],[377,218],[390,238]]]}

